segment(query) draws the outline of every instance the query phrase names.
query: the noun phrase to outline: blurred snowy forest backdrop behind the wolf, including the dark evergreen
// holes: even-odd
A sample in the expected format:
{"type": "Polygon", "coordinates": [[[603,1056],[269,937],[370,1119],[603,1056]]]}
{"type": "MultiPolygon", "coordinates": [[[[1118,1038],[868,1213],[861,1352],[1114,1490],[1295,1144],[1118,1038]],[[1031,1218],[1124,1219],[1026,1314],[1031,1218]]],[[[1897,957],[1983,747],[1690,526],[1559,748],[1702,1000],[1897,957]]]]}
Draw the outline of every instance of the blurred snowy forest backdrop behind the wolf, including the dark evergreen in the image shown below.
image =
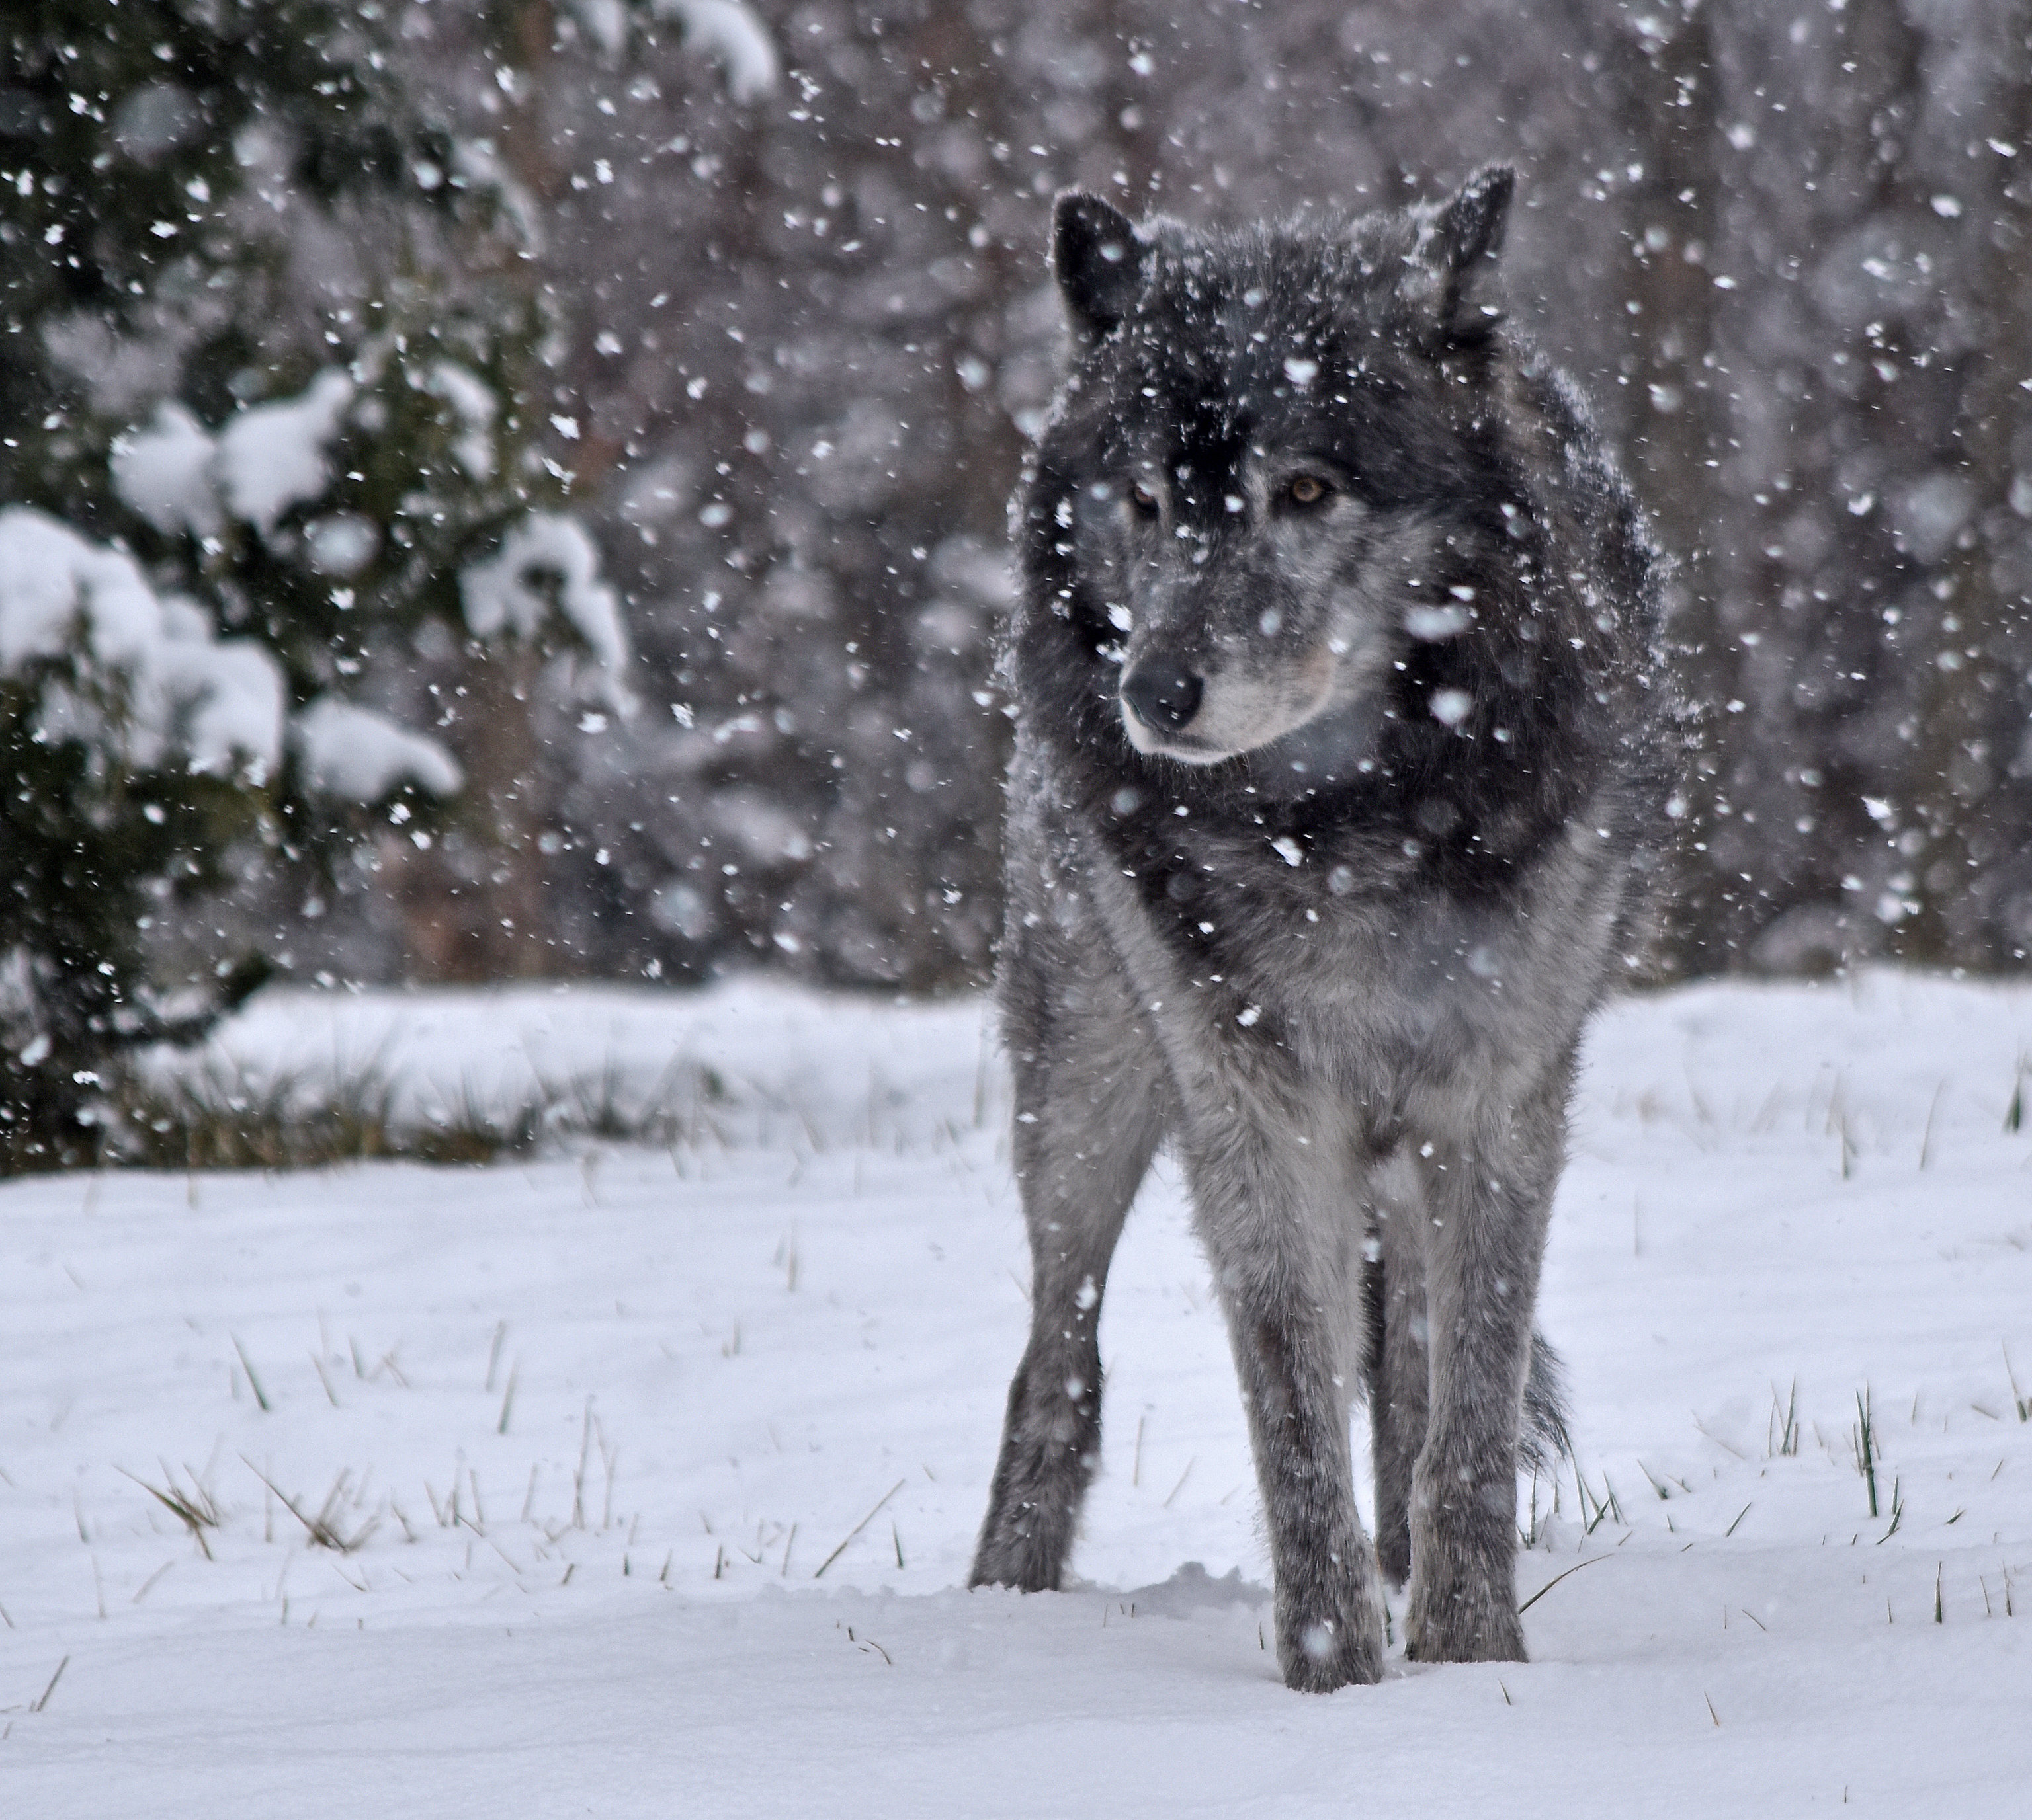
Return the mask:
{"type": "MultiPolygon", "coordinates": [[[[981,981],[1051,197],[1231,221],[1498,158],[1514,319],[1678,561],[1699,713],[1664,975],[2018,967],[2028,24],[2016,0],[10,8],[0,508],[266,640],[299,729],[118,861],[173,906],[118,969],[163,1005],[262,963],[981,981]],[[236,414],[319,384],[327,443],[299,455],[325,465],[236,504],[236,414]],[[175,461],[148,490],[134,451],[179,447],[217,504],[175,461]],[[467,583],[510,559],[504,632],[467,583]],[[451,770],[335,788],[299,723],[339,699],[451,770]]],[[[16,768],[55,727],[26,674],[0,644],[16,768]]],[[[85,867],[100,900],[114,863],[85,867]]],[[[16,1066],[20,955],[83,878],[51,865],[43,924],[18,857],[0,912],[16,1066]]],[[[77,1016],[134,1034],[140,997],[77,1016]]]]}

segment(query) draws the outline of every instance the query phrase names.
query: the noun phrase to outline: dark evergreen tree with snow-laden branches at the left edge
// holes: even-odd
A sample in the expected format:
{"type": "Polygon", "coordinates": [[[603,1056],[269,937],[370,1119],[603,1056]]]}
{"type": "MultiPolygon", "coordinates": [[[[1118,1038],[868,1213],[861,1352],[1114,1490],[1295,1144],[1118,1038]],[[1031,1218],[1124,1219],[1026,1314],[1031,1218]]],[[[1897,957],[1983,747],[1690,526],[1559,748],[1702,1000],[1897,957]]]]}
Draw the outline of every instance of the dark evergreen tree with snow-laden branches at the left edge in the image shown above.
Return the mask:
{"type": "Polygon", "coordinates": [[[429,841],[459,768],[374,709],[419,648],[563,620],[622,658],[516,412],[518,199],[394,53],[325,0],[55,0],[0,39],[0,1172],[96,1154],[120,1056],[258,981],[209,955],[173,995],[150,906],[429,841]],[[250,664],[287,739],[219,721],[250,664]]]}

